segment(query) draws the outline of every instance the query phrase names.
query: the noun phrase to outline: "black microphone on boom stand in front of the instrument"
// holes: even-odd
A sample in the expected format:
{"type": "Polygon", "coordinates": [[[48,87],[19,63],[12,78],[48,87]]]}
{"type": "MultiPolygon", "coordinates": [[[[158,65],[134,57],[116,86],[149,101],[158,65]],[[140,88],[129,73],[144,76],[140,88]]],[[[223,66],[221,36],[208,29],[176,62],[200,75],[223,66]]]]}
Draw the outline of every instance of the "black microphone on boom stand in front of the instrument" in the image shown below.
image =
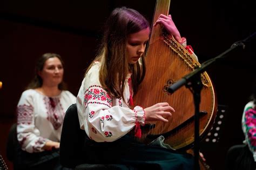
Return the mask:
{"type": "Polygon", "coordinates": [[[202,63],[201,66],[194,68],[194,70],[178,80],[176,83],[172,84],[168,88],[169,93],[174,93],[178,90],[181,86],[185,85],[186,88],[190,89],[193,93],[194,99],[194,169],[200,169],[199,167],[199,105],[200,105],[200,93],[203,88],[203,84],[201,82],[200,73],[204,72],[208,66],[212,65],[213,63],[217,62],[218,59],[224,58],[227,53],[233,51],[236,47],[242,46],[243,49],[245,48],[245,42],[248,42],[252,37],[256,35],[254,32],[251,36],[248,36],[244,40],[240,40],[235,42],[231,45],[230,49],[227,49],[219,56],[209,59],[206,62],[202,63]]]}

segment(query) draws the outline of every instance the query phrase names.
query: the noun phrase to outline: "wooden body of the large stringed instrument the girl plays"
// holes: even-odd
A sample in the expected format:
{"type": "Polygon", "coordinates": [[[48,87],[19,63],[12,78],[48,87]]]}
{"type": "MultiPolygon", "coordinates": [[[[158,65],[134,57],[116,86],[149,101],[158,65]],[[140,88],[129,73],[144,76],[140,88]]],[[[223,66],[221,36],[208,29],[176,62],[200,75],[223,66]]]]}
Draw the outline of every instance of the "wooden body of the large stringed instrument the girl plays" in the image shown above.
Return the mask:
{"type": "MultiPolygon", "coordinates": [[[[159,2],[166,3],[165,0],[159,2]]],[[[154,22],[159,16],[158,13],[165,12],[155,11],[154,22]]],[[[185,86],[173,94],[168,93],[167,88],[200,66],[199,62],[172,36],[165,35],[160,25],[152,29],[145,61],[146,75],[138,93],[133,97],[134,104],[146,108],[156,103],[167,102],[176,112],[169,117],[169,123],[147,122],[145,127],[142,127],[143,136],[139,140],[149,143],[162,134],[165,143],[174,149],[191,147],[194,141],[193,94],[185,86]]],[[[217,100],[212,81],[206,72],[201,74],[201,81],[204,86],[201,90],[200,112],[205,113],[200,115],[199,120],[199,135],[202,139],[212,127],[217,112],[217,100]]]]}

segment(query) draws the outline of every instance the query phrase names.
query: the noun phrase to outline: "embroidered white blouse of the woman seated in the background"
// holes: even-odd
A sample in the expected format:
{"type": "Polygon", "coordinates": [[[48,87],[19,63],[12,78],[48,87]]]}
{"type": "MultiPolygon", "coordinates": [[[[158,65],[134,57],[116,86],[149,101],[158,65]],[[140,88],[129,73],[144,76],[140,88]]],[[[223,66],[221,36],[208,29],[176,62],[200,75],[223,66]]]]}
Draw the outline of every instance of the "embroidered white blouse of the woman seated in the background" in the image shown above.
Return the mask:
{"type": "Polygon", "coordinates": [[[55,97],[24,91],[17,106],[17,137],[22,149],[42,152],[46,141],[59,142],[65,112],[73,103],[76,97],[69,91],[55,97]]]}

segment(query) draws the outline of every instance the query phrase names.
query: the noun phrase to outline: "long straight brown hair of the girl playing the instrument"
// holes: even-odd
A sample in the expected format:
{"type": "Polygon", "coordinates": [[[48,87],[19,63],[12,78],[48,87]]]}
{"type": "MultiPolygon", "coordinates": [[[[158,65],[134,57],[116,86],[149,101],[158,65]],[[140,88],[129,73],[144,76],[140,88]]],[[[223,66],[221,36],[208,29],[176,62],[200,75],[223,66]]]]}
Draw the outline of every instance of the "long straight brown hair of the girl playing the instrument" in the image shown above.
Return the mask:
{"type": "Polygon", "coordinates": [[[129,73],[132,73],[134,93],[145,76],[145,52],[139,62],[134,65],[129,64],[126,42],[128,35],[146,28],[150,28],[150,25],[145,17],[138,11],[126,7],[114,9],[105,23],[104,36],[98,55],[87,71],[94,62],[99,61],[101,63],[99,81],[113,97],[124,99],[125,79],[129,73]]]}

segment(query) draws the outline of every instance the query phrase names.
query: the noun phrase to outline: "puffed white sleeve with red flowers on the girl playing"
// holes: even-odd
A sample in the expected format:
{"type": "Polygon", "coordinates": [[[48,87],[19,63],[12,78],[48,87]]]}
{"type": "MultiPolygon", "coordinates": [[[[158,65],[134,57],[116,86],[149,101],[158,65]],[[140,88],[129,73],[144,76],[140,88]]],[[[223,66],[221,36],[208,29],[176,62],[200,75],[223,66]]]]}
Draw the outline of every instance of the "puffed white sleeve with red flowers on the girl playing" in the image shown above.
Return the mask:
{"type": "Polygon", "coordinates": [[[111,95],[99,83],[99,68],[87,72],[77,96],[77,109],[81,128],[97,142],[111,142],[144,125],[145,112],[136,106],[133,110],[120,105],[112,106],[111,95]]]}

